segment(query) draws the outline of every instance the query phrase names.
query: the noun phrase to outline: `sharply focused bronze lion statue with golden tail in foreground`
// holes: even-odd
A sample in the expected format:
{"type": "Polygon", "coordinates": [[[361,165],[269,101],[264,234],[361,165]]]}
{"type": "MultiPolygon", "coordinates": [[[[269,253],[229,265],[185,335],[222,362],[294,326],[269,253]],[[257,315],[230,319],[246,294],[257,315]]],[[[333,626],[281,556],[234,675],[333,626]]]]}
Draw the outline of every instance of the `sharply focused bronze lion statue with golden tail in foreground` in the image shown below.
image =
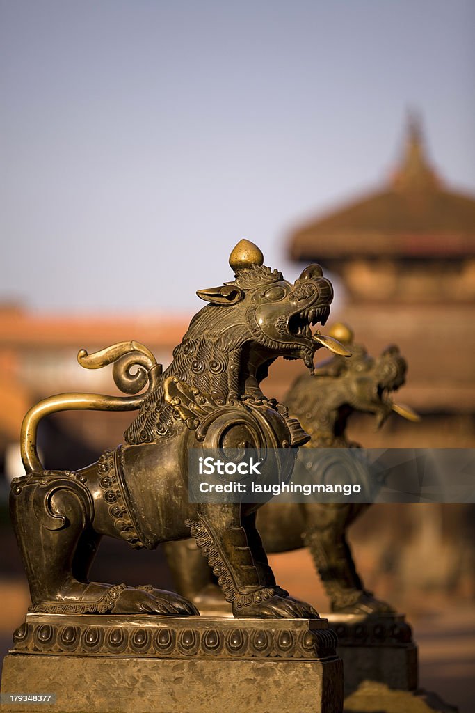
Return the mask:
{"type": "MultiPolygon", "coordinates": [[[[113,364],[115,383],[132,395],[60,394],[28,411],[21,435],[26,476],[12,482],[10,506],[31,610],[197,614],[184,597],[152,585],[88,580],[104,535],[150,549],[191,535],[236,617],[318,617],[276,585],[256,530],[259,506],[189,502],[189,448],[296,449],[308,440],[287,409],[261,391],[278,356],[303,359],[313,370],[318,347],[349,354],[311,331],[326,322],[333,298],[320,266],[310,265],[291,284],[264,266],[259,248],[245,240],[229,264],[234,280],[197,292],[207,305],[193,317],[165,371],[137,342],[90,355],[81,350],[80,364],[113,364]],[[145,386],[145,393],[133,395],[145,386]],[[139,412],[125,443],[98,462],[75,472],[45,471],[36,450],[38,421],[68,409],[139,412]]],[[[281,475],[290,478],[291,472],[281,475]]]]}

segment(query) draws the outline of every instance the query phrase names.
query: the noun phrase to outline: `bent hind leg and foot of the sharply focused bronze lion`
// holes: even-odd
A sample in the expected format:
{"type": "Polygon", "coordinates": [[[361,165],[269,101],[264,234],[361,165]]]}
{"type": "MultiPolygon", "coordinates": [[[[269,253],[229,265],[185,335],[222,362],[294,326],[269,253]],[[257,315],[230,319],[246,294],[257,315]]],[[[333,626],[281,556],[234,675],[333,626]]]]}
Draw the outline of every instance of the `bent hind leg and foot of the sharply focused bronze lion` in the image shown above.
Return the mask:
{"type": "Polygon", "coordinates": [[[30,473],[12,483],[10,511],[31,593],[32,610],[52,613],[150,612],[190,615],[197,610],[152,586],[131,588],[88,581],[101,535],[93,529],[94,502],[78,473],[30,473]]]}

